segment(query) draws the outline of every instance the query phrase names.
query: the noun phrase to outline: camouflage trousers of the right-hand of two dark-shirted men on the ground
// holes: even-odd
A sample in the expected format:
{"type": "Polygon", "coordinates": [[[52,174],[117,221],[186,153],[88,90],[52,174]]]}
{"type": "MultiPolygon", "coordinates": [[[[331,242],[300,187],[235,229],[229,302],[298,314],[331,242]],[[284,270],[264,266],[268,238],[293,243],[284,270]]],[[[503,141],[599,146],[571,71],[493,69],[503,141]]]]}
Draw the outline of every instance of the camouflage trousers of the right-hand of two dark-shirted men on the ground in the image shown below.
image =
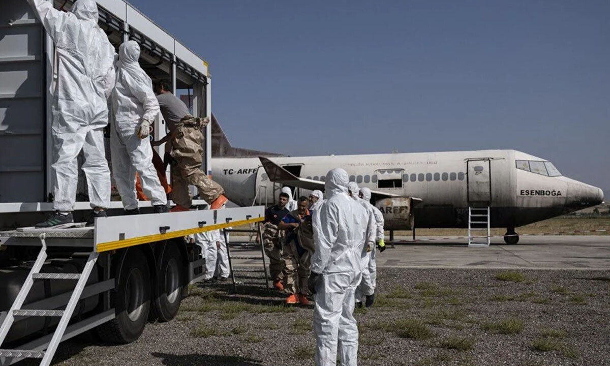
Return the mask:
{"type": "Polygon", "coordinates": [[[307,280],[309,279],[309,266],[311,265],[311,253],[304,251],[299,256],[294,241],[284,244],[284,291],[287,293],[300,293],[307,295],[307,280]]]}

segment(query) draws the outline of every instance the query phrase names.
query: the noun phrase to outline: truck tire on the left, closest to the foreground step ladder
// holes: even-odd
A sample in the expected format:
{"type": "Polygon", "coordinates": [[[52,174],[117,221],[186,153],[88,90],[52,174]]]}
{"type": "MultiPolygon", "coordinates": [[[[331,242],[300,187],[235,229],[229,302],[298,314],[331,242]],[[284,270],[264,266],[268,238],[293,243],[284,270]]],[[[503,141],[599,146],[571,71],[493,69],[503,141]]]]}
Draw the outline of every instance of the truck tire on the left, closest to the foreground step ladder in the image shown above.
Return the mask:
{"type": "Polygon", "coordinates": [[[118,281],[115,281],[117,288],[110,298],[116,317],[96,330],[104,342],[131,343],[142,335],[148,321],[151,304],[148,260],[140,249],[130,248],[123,264],[113,270],[118,281]]]}

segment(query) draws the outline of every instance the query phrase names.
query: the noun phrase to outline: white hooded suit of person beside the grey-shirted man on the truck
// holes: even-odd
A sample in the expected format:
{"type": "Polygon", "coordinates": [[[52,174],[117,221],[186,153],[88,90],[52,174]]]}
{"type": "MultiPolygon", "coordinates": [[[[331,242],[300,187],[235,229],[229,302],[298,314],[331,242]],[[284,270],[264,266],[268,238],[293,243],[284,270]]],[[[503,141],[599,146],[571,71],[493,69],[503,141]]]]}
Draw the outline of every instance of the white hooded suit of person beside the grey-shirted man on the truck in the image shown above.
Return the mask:
{"type": "Polygon", "coordinates": [[[138,137],[140,125],[146,126],[149,122],[152,125],[160,113],[159,102],[152,91],[151,78],[140,67],[139,58],[140,46],[135,41],[126,41],[120,46],[117,84],[112,91],[112,172],[126,210],[138,208],[136,171],[140,175],[142,190],[151,199],[151,203],[154,206],[167,204],[165,189],[152,165],[150,140],[148,137],[138,137]]]}

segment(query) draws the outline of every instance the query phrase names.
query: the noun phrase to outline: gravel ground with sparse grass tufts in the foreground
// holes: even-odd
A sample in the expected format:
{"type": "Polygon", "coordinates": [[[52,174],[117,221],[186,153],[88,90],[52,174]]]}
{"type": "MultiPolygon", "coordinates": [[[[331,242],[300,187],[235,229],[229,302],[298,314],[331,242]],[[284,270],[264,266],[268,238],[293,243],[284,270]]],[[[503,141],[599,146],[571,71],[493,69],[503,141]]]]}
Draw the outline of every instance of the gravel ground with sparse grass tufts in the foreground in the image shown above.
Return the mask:
{"type": "MultiPolygon", "coordinates": [[[[55,364],[314,364],[312,306],[228,290],[193,287],[175,320],[137,342],[80,337],[55,364]]],[[[610,365],[610,271],[384,268],[376,306],[356,318],[362,366],[610,365]]]]}

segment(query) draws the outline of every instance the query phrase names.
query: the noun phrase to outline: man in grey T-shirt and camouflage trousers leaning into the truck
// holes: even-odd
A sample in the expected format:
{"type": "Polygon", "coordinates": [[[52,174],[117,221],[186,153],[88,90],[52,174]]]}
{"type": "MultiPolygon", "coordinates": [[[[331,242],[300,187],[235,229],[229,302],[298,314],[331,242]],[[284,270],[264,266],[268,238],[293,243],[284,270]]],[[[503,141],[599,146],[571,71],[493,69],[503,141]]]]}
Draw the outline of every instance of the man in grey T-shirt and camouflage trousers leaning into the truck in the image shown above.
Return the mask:
{"type": "Polygon", "coordinates": [[[199,196],[210,209],[220,209],[227,201],[224,189],[201,170],[204,140],[201,130],[210,119],[190,115],[186,104],[169,89],[167,84],[160,83],[157,90],[157,101],[169,133],[152,146],[167,142],[165,152],[171,156],[171,199],[178,205],[171,211],[184,211],[191,206],[193,199],[188,192],[191,184],[197,187],[199,196]]]}

